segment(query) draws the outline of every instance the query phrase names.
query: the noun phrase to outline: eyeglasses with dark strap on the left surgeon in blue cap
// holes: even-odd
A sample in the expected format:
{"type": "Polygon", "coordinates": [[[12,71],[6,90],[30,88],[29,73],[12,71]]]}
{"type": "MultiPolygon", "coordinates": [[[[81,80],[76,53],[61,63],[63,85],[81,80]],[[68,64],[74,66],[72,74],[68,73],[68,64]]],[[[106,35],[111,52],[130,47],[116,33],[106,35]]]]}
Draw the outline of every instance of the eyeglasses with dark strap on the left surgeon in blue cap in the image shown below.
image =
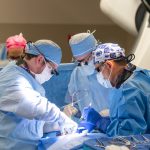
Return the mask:
{"type": "Polygon", "coordinates": [[[38,48],[36,45],[33,44],[32,41],[28,41],[27,44],[28,44],[28,46],[30,46],[30,44],[32,44],[32,46],[34,46],[35,49],[44,57],[44,62],[45,62],[45,64],[48,64],[49,68],[52,68],[51,74],[59,75],[59,73],[58,73],[58,71],[55,69],[53,63],[52,63],[51,61],[46,60],[44,54],[39,50],[39,48],[38,48]]]}

